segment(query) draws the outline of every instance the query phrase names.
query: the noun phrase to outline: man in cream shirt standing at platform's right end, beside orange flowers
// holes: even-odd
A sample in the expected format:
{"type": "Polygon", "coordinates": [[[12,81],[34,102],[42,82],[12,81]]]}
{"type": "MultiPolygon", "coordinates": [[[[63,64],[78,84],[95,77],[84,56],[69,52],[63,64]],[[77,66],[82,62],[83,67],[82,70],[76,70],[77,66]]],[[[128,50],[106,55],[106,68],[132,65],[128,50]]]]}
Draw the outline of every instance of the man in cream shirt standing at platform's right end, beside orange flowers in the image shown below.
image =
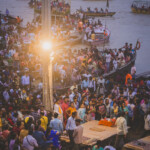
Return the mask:
{"type": "Polygon", "coordinates": [[[124,139],[126,138],[128,133],[127,121],[125,119],[125,112],[120,113],[120,117],[118,117],[116,120],[116,125],[117,125],[117,137],[115,147],[117,150],[120,150],[124,145],[124,139]]]}

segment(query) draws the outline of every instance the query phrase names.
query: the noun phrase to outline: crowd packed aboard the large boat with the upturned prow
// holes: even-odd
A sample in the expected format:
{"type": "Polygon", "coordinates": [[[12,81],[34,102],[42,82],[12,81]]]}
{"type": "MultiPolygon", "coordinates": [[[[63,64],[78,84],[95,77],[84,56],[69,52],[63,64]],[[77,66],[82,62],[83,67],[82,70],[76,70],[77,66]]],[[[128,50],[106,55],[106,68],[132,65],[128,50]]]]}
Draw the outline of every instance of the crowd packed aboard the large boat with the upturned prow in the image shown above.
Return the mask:
{"type": "Polygon", "coordinates": [[[88,88],[90,81],[94,83],[93,77],[109,73],[129,63],[136,53],[132,44],[128,45],[128,43],[120,49],[99,51],[92,46],[90,49],[66,50],[65,52],[67,53],[63,51],[58,55],[59,61],[54,65],[55,79],[67,85],[69,81],[71,84],[81,84],[82,89],[88,88]],[[128,46],[129,49],[126,48],[128,46]]]}

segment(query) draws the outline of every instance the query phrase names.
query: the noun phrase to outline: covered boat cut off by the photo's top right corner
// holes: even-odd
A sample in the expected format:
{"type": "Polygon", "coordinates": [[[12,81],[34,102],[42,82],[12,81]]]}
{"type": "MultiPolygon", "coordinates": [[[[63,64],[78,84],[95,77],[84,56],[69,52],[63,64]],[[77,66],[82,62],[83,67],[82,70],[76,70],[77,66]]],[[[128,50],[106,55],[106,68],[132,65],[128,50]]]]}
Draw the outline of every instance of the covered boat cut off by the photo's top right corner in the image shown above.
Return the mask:
{"type": "Polygon", "coordinates": [[[133,13],[150,14],[150,2],[149,1],[134,1],[131,5],[133,13]]]}

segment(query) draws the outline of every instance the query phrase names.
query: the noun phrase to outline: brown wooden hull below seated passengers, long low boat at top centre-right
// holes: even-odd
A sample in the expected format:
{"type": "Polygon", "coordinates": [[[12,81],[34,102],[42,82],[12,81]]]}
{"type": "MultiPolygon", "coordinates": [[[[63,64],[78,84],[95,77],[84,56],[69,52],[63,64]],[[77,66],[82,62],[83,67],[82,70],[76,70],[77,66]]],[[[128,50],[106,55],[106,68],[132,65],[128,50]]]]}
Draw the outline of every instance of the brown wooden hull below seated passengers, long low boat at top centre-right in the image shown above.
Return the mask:
{"type": "Polygon", "coordinates": [[[92,16],[92,17],[106,17],[106,16],[113,16],[116,12],[108,12],[108,13],[101,13],[101,12],[82,12],[86,16],[92,16]]]}

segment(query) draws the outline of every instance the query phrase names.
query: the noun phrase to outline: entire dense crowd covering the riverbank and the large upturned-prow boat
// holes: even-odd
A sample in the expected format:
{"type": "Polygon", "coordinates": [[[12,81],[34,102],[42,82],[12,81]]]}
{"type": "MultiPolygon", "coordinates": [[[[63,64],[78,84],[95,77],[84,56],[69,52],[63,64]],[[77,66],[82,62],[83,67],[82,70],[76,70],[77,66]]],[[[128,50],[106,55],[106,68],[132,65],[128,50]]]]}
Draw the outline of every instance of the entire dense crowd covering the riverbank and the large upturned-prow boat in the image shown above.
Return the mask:
{"type": "MultiPolygon", "coordinates": [[[[69,82],[72,86],[64,92],[54,91],[54,110],[45,110],[41,58],[33,50],[38,49],[33,40],[38,38],[38,29],[34,22],[28,23],[25,29],[18,24],[2,24],[0,28],[0,147],[3,150],[61,149],[59,137],[64,130],[71,146],[78,150],[83,135],[80,124],[105,117],[122,117],[124,125],[127,122],[136,131],[142,127],[149,134],[150,80],[136,80],[135,66],[126,82],[124,76],[115,80],[103,77],[134,57],[136,48],[128,43],[118,50],[102,52],[91,47],[58,53],[53,69],[55,81],[63,85],[69,82]]],[[[118,128],[118,135],[124,134],[127,130],[118,128]]],[[[104,146],[98,141],[92,149],[102,150],[104,146]]]]}

